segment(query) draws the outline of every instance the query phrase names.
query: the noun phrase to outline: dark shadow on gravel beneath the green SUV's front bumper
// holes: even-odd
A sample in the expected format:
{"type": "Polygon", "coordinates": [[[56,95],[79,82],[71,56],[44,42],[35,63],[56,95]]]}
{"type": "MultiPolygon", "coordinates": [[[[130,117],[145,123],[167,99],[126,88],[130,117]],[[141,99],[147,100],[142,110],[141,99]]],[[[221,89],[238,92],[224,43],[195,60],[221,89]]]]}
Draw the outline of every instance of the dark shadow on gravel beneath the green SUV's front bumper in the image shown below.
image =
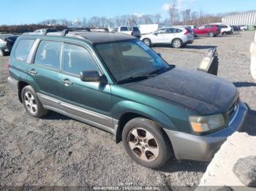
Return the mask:
{"type": "Polygon", "coordinates": [[[197,162],[192,160],[176,160],[170,159],[166,165],[159,168],[159,171],[165,173],[177,172],[177,171],[189,171],[189,172],[205,172],[208,166],[208,162],[197,162]]]}

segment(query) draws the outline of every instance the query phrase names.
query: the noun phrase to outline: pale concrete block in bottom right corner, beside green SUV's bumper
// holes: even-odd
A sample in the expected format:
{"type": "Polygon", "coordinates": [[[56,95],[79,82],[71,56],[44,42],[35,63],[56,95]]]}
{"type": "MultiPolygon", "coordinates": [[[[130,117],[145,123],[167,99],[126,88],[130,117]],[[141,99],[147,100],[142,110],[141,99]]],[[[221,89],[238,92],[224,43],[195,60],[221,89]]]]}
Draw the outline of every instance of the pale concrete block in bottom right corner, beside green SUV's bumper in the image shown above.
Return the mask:
{"type": "Polygon", "coordinates": [[[256,136],[233,133],[214,155],[199,186],[228,186],[236,190],[236,186],[245,186],[244,182],[252,184],[253,177],[255,181],[256,160],[255,157],[250,156],[256,155],[255,145],[256,136]],[[246,160],[241,160],[241,158],[246,160]],[[236,174],[233,168],[236,169],[236,174]]]}

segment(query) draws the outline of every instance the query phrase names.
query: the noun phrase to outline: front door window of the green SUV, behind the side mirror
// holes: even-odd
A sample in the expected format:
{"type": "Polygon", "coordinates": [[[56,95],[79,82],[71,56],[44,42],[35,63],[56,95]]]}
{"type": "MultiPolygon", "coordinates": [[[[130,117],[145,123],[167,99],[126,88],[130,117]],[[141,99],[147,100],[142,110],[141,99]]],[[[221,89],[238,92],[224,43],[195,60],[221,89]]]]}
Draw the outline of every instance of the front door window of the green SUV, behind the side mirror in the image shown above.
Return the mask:
{"type": "Polygon", "coordinates": [[[64,44],[61,70],[79,75],[80,71],[99,69],[88,50],[77,45],[64,44]]]}

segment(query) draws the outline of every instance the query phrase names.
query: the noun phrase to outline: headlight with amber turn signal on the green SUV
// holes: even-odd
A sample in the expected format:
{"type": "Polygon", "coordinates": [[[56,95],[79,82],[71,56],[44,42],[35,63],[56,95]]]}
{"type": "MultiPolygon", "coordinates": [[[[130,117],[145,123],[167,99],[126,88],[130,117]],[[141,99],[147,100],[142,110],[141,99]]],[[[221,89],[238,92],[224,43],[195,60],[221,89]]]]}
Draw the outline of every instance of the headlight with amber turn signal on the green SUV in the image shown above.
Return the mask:
{"type": "Polygon", "coordinates": [[[214,130],[225,125],[225,120],[222,114],[191,116],[189,117],[189,122],[196,133],[214,130]]]}

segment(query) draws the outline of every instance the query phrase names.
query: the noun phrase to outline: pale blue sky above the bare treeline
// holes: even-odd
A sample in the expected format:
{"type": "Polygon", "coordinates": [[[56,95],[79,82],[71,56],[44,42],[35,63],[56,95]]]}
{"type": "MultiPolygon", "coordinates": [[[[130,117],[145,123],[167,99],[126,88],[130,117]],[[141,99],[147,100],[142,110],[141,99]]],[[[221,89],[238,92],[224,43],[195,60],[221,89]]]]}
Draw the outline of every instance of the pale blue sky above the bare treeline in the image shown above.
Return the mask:
{"type": "MultiPolygon", "coordinates": [[[[176,0],[178,9],[206,13],[256,9],[256,0],[176,0]]],[[[0,25],[39,23],[52,18],[157,14],[167,17],[166,0],[0,0],[0,25]]]]}

